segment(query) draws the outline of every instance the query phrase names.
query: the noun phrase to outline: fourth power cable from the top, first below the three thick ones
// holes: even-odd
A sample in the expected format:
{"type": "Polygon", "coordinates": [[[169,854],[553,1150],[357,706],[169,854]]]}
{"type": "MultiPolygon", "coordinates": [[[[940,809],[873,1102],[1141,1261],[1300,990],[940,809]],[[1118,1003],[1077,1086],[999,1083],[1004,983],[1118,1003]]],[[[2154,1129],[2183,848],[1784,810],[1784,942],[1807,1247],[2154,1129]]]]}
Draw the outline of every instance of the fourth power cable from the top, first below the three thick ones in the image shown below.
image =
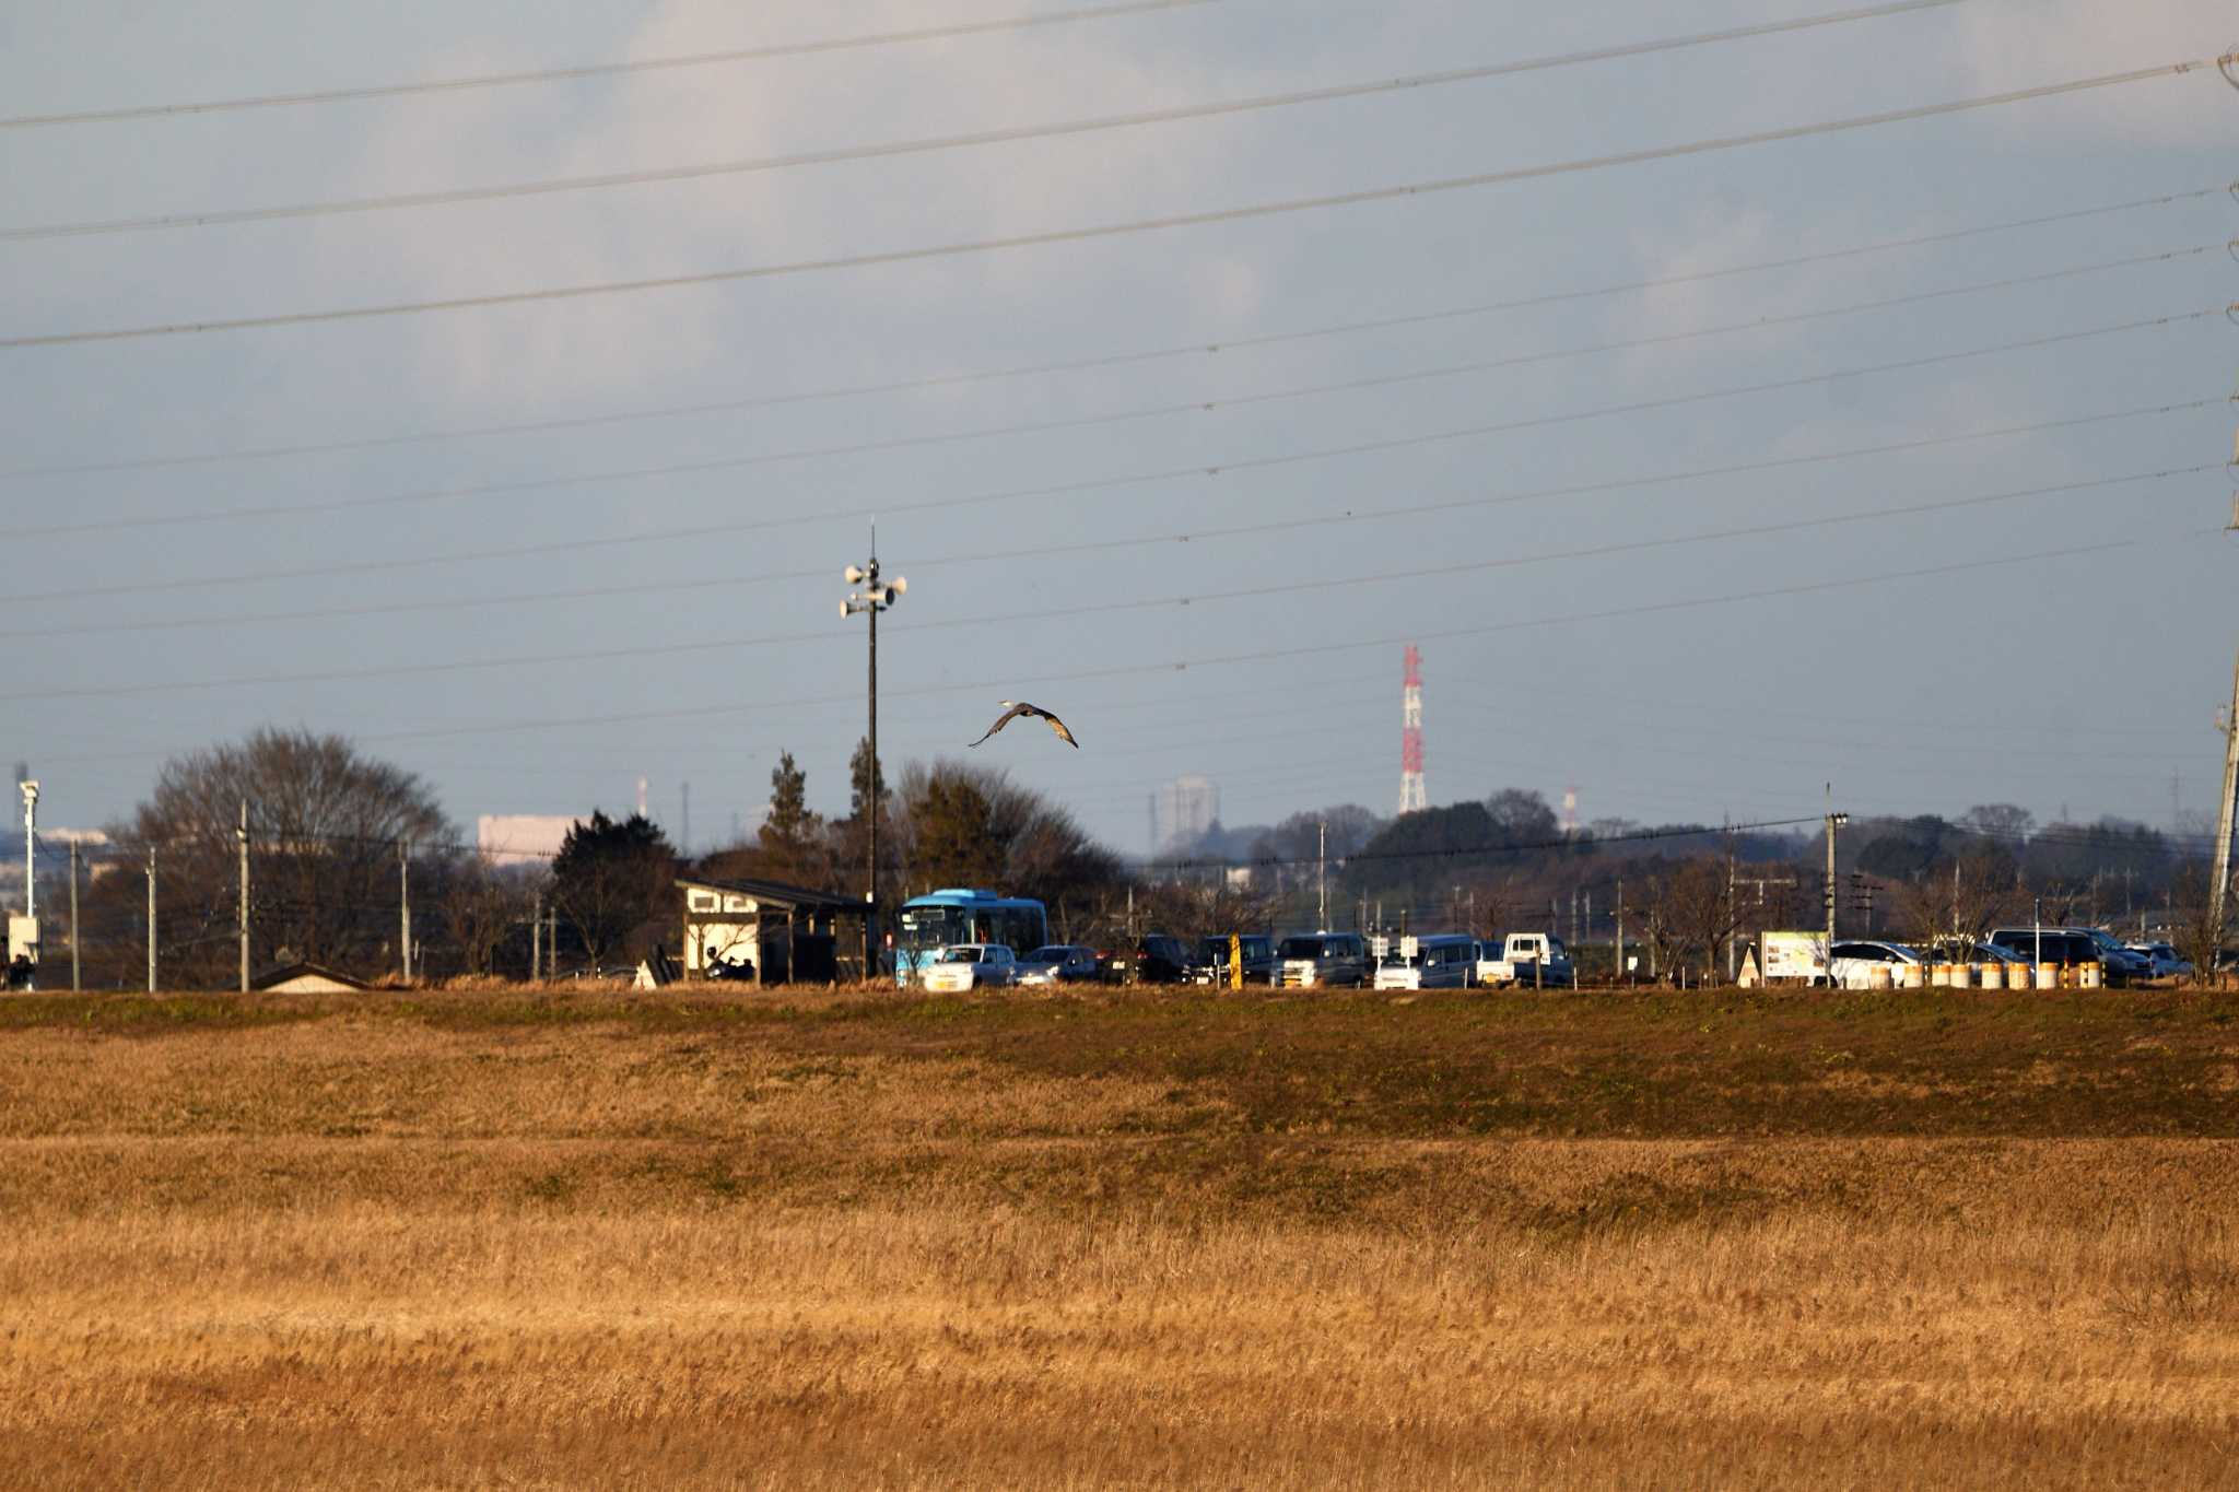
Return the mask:
{"type": "Polygon", "coordinates": [[[1122,353],[1104,353],[1104,356],[1090,356],[1090,358],[1070,358],[1070,360],[1061,360],[1061,362],[1030,362],[1030,365],[1021,365],[1021,367],[987,369],[987,371],[974,371],[974,374],[934,374],[934,376],[927,376],[927,378],[902,378],[902,380],[891,380],[891,383],[846,385],[846,387],[833,387],[833,389],[804,389],[799,394],[757,394],[757,396],[746,396],[746,398],[721,398],[721,400],[703,400],[703,403],[687,403],[687,405],[663,405],[663,407],[654,407],[654,409],[620,409],[620,412],[611,412],[611,414],[578,414],[578,416],[546,418],[546,421],[515,421],[515,423],[506,423],[506,425],[468,425],[468,427],[457,427],[457,429],[425,429],[425,432],[407,432],[407,434],[394,434],[394,436],[363,436],[363,438],[345,438],[345,441],[307,441],[307,443],[298,443],[298,445],[262,445],[262,447],[242,447],[242,450],[231,450],[231,452],[177,452],[177,454],[159,454],[159,456],[128,456],[128,459],[121,459],[121,461],[83,461],[83,463],[72,463],[72,465],[16,468],[11,472],[9,470],[0,470],[0,481],[20,481],[20,479],[27,479],[27,476],[78,476],[78,474],[94,474],[94,472],[137,472],[137,470],[172,468],[172,465],[210,465],[210,463],[222,463],[222,461],[273,461],[273,459],[282,459],[282,456],[316,456],[316,454],[329,454],[329,452],[383,450],[383,447],[394,447],[394,445],[421,445],[421,443],[434,443],[434,441],[468,441],[468,438],[479,438],[479,436],[517,436],[517,434],[551,434],[551,432],[564,432],[564,429],[596,429],[596,427],[609,427],[609,425],[631,425],[631,423],[643,423],[643,421],[685,418],[685,416],[696,416],[696,414],[734,414],[734,412],[741,412],[741,409],[770,409],[770,407],[781,407],[781,405],[822,403],[822,400],[837,400],[837,398],[864,398],[864,396],[878,396],[878,394],[914,394],[914,391],[961,387],[961,385],[974,385],[974,383],[994,383],[994,380],[1005,380],[1005,378],[1041,378],[1041,376],[1048,376],[1048,374],[1075,374],[1075,371],[1090,371],[1090,369],[1106,369],[1106,367],[1128,367],[1128,365],[1135,365],[1135,362],[1158,362],[1158,360],[1171,360],[1171,358],[1218,356],[1222,351],[1238,351],[1238,349],[1252,349],[1252,347],[1276,347],[1276,344],[1285,344],[1285,342],[1303,342],[1303,340],[1332,338],[1332,336],[1352,336],[1352,333],[1361,333],[1361,331],[1388,331],[1393,327],[1420,327],[1420,324],[1446,322],[1446,320],[1462,320],[1462,318],[1473,318],[1473,315],[1493,315],[1493,313],[1500,313],[1500,311],[1523,311],[1523,309],[1531,309],[1531,306],[1552,306],[1552,304],[1563,304],[1563,302],[1599,300],[1599,298],[1608,298],[1608,295],[1630,295],[1630,293],[1637,293],[1637,291],[1661,291],[1661,289],[1673,289],[1673,286],[1681,286],[1681,284],[1704,284],[1704,282],[1711,282],[1711,280],[1729,280],[1729,277],[1735,277],[1735,275],[1755,275],[1755,273],[1780,271],[1780,268],[1800,268],[1800,266],[1807,266],[1807,264],[1829,264],[1829,262],[1836,262],[1836,259],[1852,259],[1852,257],[1863,257],[1863,255],[1892,253],[1892,251],[1901,251],[1901,248],[1921,248],[1921,246],[1928,246],[1928,244],[1950,244],[1950,242],[1957,242],[1957,239],[1982,237],[1982,235],[1990,235],[1990,233],[2015,233],[2015,230],[2022,230],[2022,228],[2042,228],[2042,226],[2049,226],[2049,224],[2076,221],[2076,219],[2085,219],[2085,217],[2105,217],[2105,215],[2111,215],[2111,213],[2129,213],[2129,210],[2138,210],[2138,208],[2161,208],[2161,206],[2174,206],[2174,204],[2181,204],[2181,201],[2199,201],[2203,197],[2219,197],[2219,195],[2223,195],[2223,190],[2226,188],[2221,188],[2221,186],[2210,186],[2210,188],[2199,188],[2199,190],[2190,190],[2190,192],[2165,192],[2161,197],[2134,197],[2134,199],[2127,199],[2127,201],[2114,201],[2114,204],[2102,204],[2102,206],[2093,206],[2093,208],[2071,208],[2071,210],[2064,210],[2064,213],[2044,213],[2044,215],[2035,215],[2035,217],[2015,217],[2015,219],[2004,219],[2004,221],[1993,221],[1993,224],[1973,224],[1973,226],[1966,226],[1966,228],[1943,228],[1943,230],[1937,230],[1937,233],[1917,233],[1917,235],[1896,237],[1896,239],[1879,239],[1879,242],[1872,242],[1872,244],[1854,244],[1854,246],[1847,246],[1847,248],[1825,248],[1825,251],[1805,253],[1805,255],[1789,255],[1789,257],[1782,257],[1782,259],[1755,259],[1755,262],[1749,262],[1749,264],[1726,264],[1726,266],[1720,266],[1720,268],[1693,271],[1693,273],[1686,273],[1686,275],[1659,275],[1655,280],[1628,280],[1628,282],[1621,282],[1621,284],[1590,286],[1590,289],[1576,289],[1576,291],[1543,291],[1543,293],[1534,293],[1534,295],[1518,295],[1518,298],[1509,298],[1509,300],[1489,300],[1489,302],[1476,302],[1476,304],[1464,304],[1464,306],[1446,306],[1446,309],[1435,309],[1435,311],[1411,311],[1411,313],[1404,313],[1404,315],[1381,315],[1381,318],[1370,318],[1370,320],[1332,322],[1332,324],[1323,324],[1323,327],[1303,327],[1303,329],[1292,329],[1292,331],[1267,331],[1267,333],[1258,333],[1258,336],[1222,338],[1218,342],[1187,342],[1187,344],[1178,344],[1178,347],[1155,347],[1155,349],[1146,349],[1146,351],[1122,351],[1122,353]]]}

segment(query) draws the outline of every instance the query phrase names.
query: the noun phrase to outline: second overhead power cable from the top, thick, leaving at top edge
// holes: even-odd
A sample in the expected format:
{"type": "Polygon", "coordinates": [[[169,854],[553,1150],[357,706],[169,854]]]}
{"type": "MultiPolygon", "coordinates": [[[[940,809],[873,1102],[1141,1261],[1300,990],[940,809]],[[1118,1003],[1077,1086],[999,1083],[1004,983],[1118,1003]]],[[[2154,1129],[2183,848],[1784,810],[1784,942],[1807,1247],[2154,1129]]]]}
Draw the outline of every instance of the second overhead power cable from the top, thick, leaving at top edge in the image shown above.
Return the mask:
{"type": "Polygon", "coordinates": [[[649,186],[661,181],[701,181],[708,177],[743,177],[766,170],[793,170],[804,166],[840,166],[849,161],[880,161],[911,154],[934,154],[945,150],[969,150],[978,145],[1008,145],[1017,141],[1064,139],[1077,134],[1102,134],[1111,130],[1133,130],[1142,125],[1167,125],[1193,119],[1220,119],[1229,114],[1254,114],[1305,103],[1337,103],[1343,98],[1373,98],[1377,94],[1420,92],[1453,83],[1482,83],[1527,72],[1556,67],[1578,67],[1585,63],[1610,63],[1655,51],[1679,51],[1684,47],[1708,47],[1782,31],[1809,31],[1816,27],[1845,25],[1854,20],[1876,20],[1908,11],[1950,9],[1968,0],[1899,0],[1896,4],[1874,4],[1865,9],[1834,11],[1827,16],[1805,16],[1798,20],[1773,20],[1749,27],[1726,27],[1722,31],[1697,31],[1648,43],[1626,43],[1617,47],[1594,47],[1518,63],[1487,63],[1480,67],[1451,67],[1442,72],[1402,74],[1397,78],[1375,78],[1368,83],[1339,83],[1332,87],[1305,87],[1285,94],[1258,94],[1256,98],[1229,98],[1218,103],[1182,103],[1164,110],[1135,110],[1128,114],[1104,114],[1097,119],[1070,119],[1046,125],[1014,125],[1008,130],[972,130],[929,139],[887,141],[878,145],[846,145],[835,150],[804,150],[793,154],[752,157],[743,161],[708,161],[696,166],[656,166],[643,170],[598,172],[584,177],[546,177],[540,181],[513,181],[504,186],[468,186],[434,192],[390,192],[381,197],[345,197],[329,201],[302,201],[271,208],[226,208],[210,213],[157,213],[143,217],[110,217],[99,221],[45,224],[31,228],[0,228],[0,242],[92,237],[107,233],[152,233],[166,228],[213,228],[228,224],[264,224],[302,217],[338,217],[347,213],[392,213],[401,208],[459,206],[468,201],[497,201],[508,197],[551,197],[558,192],[591,192],[616,186],[649,186]]]}

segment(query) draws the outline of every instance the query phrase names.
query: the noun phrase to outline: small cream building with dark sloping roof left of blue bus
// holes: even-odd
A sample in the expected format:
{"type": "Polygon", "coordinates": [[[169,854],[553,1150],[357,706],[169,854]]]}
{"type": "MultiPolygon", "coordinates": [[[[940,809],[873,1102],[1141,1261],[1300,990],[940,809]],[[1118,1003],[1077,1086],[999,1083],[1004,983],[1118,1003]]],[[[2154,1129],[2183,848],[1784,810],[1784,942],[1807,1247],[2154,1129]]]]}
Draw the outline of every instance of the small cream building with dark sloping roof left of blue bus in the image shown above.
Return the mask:
{"type": "Polygon", "coordinates": [[[681,879],[687,980],[828,984],[860,978],[862,901],[755,879],[681,879]]]}

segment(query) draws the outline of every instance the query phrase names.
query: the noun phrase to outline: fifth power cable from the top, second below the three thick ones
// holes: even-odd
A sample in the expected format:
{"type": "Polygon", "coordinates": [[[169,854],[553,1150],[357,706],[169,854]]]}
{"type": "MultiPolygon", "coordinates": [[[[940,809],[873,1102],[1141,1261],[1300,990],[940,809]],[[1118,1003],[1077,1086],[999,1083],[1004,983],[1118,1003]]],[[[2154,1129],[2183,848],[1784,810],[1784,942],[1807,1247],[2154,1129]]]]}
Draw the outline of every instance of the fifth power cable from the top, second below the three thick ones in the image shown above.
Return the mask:
{"type": "Polygon", "coordinates": [[[2111,268],[2138,268],[2138,266],[2145,266],[2145,264],[2174,264],[2179,259],[2199,257],[2199,255],[2205,255],[2205,253],[2214,253],[2219,248],[2221,248],[2221,244],[2199,244],[2194,248],[2172,248],[2172,251],[2165,251],[2165,253],[2127,255],[2127,257],[2120,257],[2120,259],[2100,259],[2096,264],[2078,264],[2078,266],[2044,271],[2044,273],[2037,273],[2037,275],[2008,275],[2004,280],[1988,280],[1988,282],[1975,282],[1975,284],[1961,284],[1961,286],[1946,286],[1946,289],[1937,289],[1937,291],[1910,291],[1905,295],[1881,295],[1881,298],[1874,298],[1874,300],[1856,300],[1856,302],[1847,302],[1847,304],[1840,304],[1840,306],[1823,306],[1823,309],[1816,309],[1816,311],[1791,311],[1787,315],[1760,315],[1760,318],[1753,318],[1753,320],[1746,320],[1746,322],[1726,322],[1726,324],[1717,324],[1717,327],[1690,327],[1688,331],[1668,331],[1668,333],[1648,336],[1648,338],[1621,338],[1621,340],[1614,340],[1614,342],[1587,342],[1583,347],[1556,347],[1556,349],[1547,349],[1547,351],[1514,353],[1514,356],[1507,356],[1507,358],[1473,358],[1469,362],[1449,362],[1449,365],[1428,367],[1428,369],[1408,369],[1408,371],[1397,371],[1397,374],[1370,374],[1370,376],[1364,376],[1364,378],[1341,378],[1341,380],[1334,380],[1334,383],[1314,383],[1314,385],[1301,385],[1301,387],[1292,387],[1292,389],[1270,389],[1270,391],[1258,391],[1258,394],[1234,394],[1234,396],[1225,396],[1225,398],[1198,398],[1198,400],[1187,400],[1187,403],[1149,405],[1149,407],[1135,407],[1135,409],[1117,409],[1117,412],[1108,412],[1108,414],[1077,414],[1077,416],[1066,416],[1066,418],[1057,418],[1057,421],[1025,421],[1025,423],[1014,423],[1014,425],[992,425],[992,427],[958,429],[958,432],[934,432],[934,434],[920,434],[920,436],[891,436],[891,438],[884,438],[884,441],[855,441],[855,443],[846,443],[846,445],[822,445],[822,447],[788,450],[788,452],[757,452],[757,454],[750,454],[750,456],[716,456],[716,459],[710,459],[710,461],[694,461],[694,463],[683,463],[683,465],[636,468],[636,470],[627,470],[627,472],[569,472],[564,476],[528,476],[528,479],[517,479],[517,481],[510,481],[510,483],[484,483],[484,485],[472,485],[472,488],[439,488],[434,492],[403,492],[403,494],[385,494],[385,497],[340,497],[340,499],[318,499],[318,501],[305,501],[305,503],[269,503],[269,506],[262,506],[262,508],[202,508],[202,510],[190,510],[190,512],[159,512],[159,514],[112,517],[112,519],[78,519],[74,523],[49,523],[49,526],[43,526],[43,528],[20,528],[20,530],[13,530],[9,537],[16,539],[16,541],[22,541],[22,539],[54,539],[54,537],[63,537],[63,535],[114,532],[114,530],[125,530],[125,528],[170,528],[170,526],[186,526],[186,523],[235,523],[235,521],[249,521],[249,519],[298,517],[298,514],[313,514],[313,512],[354,512],[354,510],[360,510],[360,508],[385,508],[385,506],[396,506],[396,503],[421,503],[421,501],[439,501],[439,499],[452,499],[452,497],[475,497],[475,494],[495,494],[495,492],[522,492],[522,490],[555,488],[555,485],[587,485],[587,483],[596,485],[596,483],[616,481],[616,479],[676,476],[676,474],[699,474],[699,472],[710,472],[710,470],[743,470],[743,468],[757,468],[757,465],[781,465],[781,463],[793,463],[793,461],[822,461],[822,459],[831,459],[831,456],[858,456],[858,454],[896,452],[896,450],[920,450],[920,447],[927,447],[927,445],[952,445],[952,443],[958,443],[958,441],[987,441],[987,438],[1019,436],[1019,434],[1050,434],[1050,432],[1059,432],[1059,429],[1090,429],[1090,427],[1097,427],[1097,425],[1117,425],[1117,423],[1149,421],[1149,418],[1169,418],[1169,416],[1180,416],[1180,414],[1218,414],[1218,412],[1225,412],[1225,409],[1247,409],[1247,407],[1254,407],[1254,405],[1285,403],[1285,400],[1294,400],[1294,398],[1312,398],[1312,396],[1323,396],[1323,394],[1357,394],[1357,391],[1364,391],[1364,389],[1388,389],[1388,387],[1399,387],[1399,385],[1408,385],[1408,383],[1426,383],[1426,380],[1437,380],[1437,378],[1464,378],[1464,376],[1471,376],[1471,374],[1491,374],[1491,371],[1514,369],[1514,367],[1536,367],[1536,365],[1543,365],[1543,362],[1561,362],[1561,360],[1567,360],[1567,358],[1587,358],[1587,356],[1594,356],[1594,353],[1639,351],[1639,349],[1646,349],[1646,347],[1670,347],[1670,344],[1679,344],[1679,342],[1697,342],[1697,340],[1704,340],[1704,338],[1749,333],[1749,331],[1764,331],[1764,329],[1771,329],[1771,327],[1791,327],[1791,324],[1802,324],[1802,322],[1832,320],[1832,318],[1840,318],[1840,315],[1861,315],[1865,311],[1890,311],[1890,309],[1896,309],[1896,306],[1923,304],[1923,302],[1932,302],[1932,300],[1952,300],[1952,298],[1959,298],[1959,295],[1979,295],[1979,293],[1986,293],[1986,291],[2011,291],[2011,289],[2033,286],[2033,284],[2053,284],[2053,282],[2060,282],[2060,280],[2073,280],[2078,275],[2091,275],[2091,273],[2102,273],[2102,271],[2111,271],[2111,268]]]}

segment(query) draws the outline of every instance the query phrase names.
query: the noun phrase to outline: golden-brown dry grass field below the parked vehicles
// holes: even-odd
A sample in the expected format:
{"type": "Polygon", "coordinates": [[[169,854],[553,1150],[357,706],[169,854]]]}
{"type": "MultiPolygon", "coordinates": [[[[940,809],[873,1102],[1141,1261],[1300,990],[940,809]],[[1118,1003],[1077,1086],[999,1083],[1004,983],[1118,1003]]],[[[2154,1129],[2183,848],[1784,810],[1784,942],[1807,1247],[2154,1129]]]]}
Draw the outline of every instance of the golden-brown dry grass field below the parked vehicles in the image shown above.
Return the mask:
{"type": "Polygon", "coordinates": [[[2239,1000],[11,998],[0,1485],[2239,1485],[2239,1000]]]}

